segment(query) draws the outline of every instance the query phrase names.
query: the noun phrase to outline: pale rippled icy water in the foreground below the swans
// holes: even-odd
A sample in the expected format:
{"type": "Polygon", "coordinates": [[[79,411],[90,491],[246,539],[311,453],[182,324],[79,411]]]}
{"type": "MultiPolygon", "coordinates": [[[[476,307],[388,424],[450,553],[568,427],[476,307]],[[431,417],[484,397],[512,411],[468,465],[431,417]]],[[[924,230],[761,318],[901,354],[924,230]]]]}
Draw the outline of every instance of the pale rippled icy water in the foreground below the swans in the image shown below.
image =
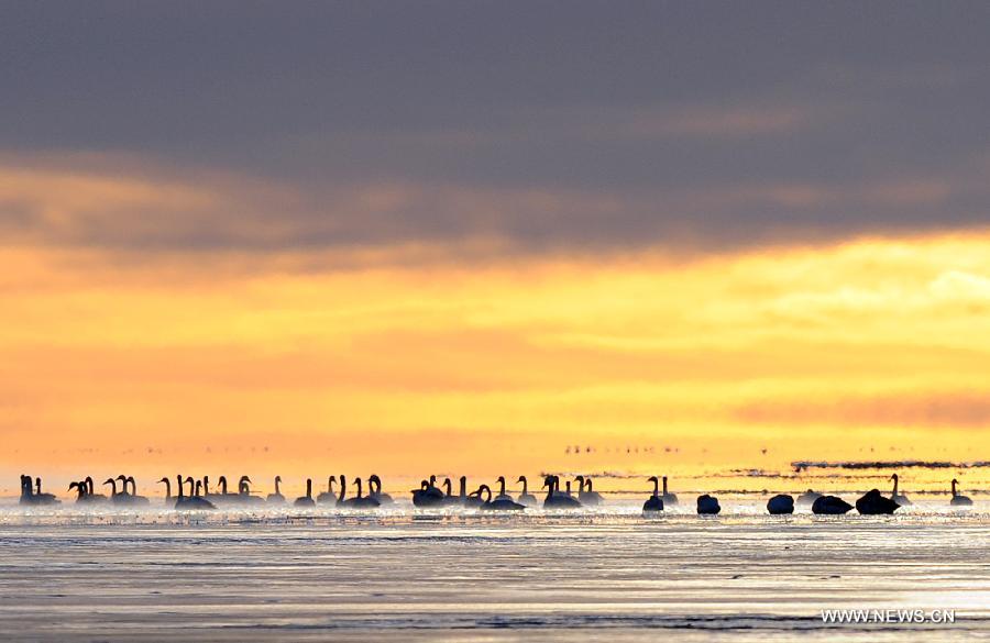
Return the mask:
{"type": "Polygon", "coordinates": [[[861,641],[990,638],[990,515],[179,515],[0,510],[18,641],[861,641]],[[825,624],[823,608],[955,608],[825,624]]]}

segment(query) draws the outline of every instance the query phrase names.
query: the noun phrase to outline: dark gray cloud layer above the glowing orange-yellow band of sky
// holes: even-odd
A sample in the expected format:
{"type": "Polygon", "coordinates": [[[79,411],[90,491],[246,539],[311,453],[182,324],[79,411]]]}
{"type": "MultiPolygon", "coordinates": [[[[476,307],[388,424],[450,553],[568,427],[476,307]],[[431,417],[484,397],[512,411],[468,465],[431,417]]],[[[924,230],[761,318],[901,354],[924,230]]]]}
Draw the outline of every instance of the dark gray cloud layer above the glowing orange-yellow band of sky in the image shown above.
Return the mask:
{"type": "Polygon", "coordinates": [[[273,186],[55,218],[37,193],[0,198],[23,239],[538,251],[990,222],[986,3],[32,2],[3,18],[14,165],[125,154],[273,186]]]}

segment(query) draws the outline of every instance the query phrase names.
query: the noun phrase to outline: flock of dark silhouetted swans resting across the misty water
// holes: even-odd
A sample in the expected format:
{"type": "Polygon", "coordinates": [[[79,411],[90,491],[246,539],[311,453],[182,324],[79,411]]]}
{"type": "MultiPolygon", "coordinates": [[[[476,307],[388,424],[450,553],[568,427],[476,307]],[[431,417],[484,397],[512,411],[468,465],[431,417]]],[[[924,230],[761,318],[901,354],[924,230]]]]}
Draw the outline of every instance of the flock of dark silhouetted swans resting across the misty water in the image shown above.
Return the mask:
{"type": "MultiPolygon", "coordinates": [[[[912,505],[906,496],[898,491],[898,475],[892,475],[890,479],[893,480],[893,489],[889,497],[882,495],[878,489],[872,489],[856,500],[856,510],[862,514],[890,514],[901,507],[912,505]]],[[[540,505],[537,497],[529,492],[529,484],[526,476],[520,476],[517,480],[517,483],[522,485],[522,491],[516,497],[507,492],[504,476],[498,477],[495,481],[498,486],[498,494],[494,494],[488,485],[481,485],[469,494],[466,476],[461,476],[459,481],[459,490],[454,494],[450,478],[438,485],[437,476],[430,476],[420,483],[419,488],[411,490],[413,505],[420,509],[458,507],[480,511],[522,511],[527,507],[539,507],[540,505]]],[[[668,490],[667,476],[660,478],[651,476],[647,481],[652,483],[653,490],[642,505],[645,515],[660,515],[664,509],[678,506],[676,495],[668,490]]],[[[172,480],[162,478],[158,480],[158,484],[165,485],[165,507],[172,507],[177,510],[212,510],[221,507],[245,508],[288,505],[288,500],[282,495],[280,476],[275,476],[275,492],[268,494],[264,498],[251,492],[252,483],[248,476],[241,476],[238,480],[238,490],[235,492],[228,489],[226,476],[220,476],[217,480],[218,489],[216,490],[210,489],[208,476],[204,476],[200,479],[195,479],[190,476],[176,476],[175,495],[173,495],[172,480]]],[[[949,505],[953,507],[971,507],[972,500],[958,492],[958,480],[953,479],[949,505]]],[[[566,480],[564,488],[561,489],[560,476],[546,476],[541,487],[541,490],[546,489],[542,507],[544,509],[580,509],[582,507],[595,507],[604,502],[602,495],[594,490],[594,483],[590,477],[578,476],[573,480],[573,485],[576,488],[572,489],[572,481],[566,480]]],[[[82,480],[72,483],[68,490],[76,492],[76,503],[78,505],[123,507],[151,505],[147,497],[138,494],[138,484],[133,476],[120,475],[117,478],[109,478],[103,481],[103,486],[110,487],[109,496],[98,494],[94,479],[87,476],[82,480]]],[[[354,495],[348,497],[346,477],[342,475],[330,476],[327,479],[327,490],[321,491],[314,498],[312,479],[307,479],[306,495],[296,498],[293,501],[293,506],[299,508],[320,506],[342,509],[375,509],[395,502],[392,496],[382,491],[382,479],[376,475],[367,477],[366,495],[361,478],[354,479],[354,487],[356,488],[354,495]],[[337,485],[337,489],[334,489],[334,485],[337,485]]],[[[51,506],[61,503],[61,500],[53,494],[42,491],[41,478],[22,475],[20,503],[25,506],[51,506]]],[[[826,496],[811,489],[798,496],[796,500],[793,496],[780,494],[773,496],[767,502],[767,511],[771,514],[793,513],[795,507],[810,507],[813,513],[833,515],[847,513],[854,508],[853,505],[849,505],[838,496],[826,496]]],[[[718,499],[708,494],[697,497],[696,509],[698,514],[707,515],[714,515],[722,511],[718,499]]]]}

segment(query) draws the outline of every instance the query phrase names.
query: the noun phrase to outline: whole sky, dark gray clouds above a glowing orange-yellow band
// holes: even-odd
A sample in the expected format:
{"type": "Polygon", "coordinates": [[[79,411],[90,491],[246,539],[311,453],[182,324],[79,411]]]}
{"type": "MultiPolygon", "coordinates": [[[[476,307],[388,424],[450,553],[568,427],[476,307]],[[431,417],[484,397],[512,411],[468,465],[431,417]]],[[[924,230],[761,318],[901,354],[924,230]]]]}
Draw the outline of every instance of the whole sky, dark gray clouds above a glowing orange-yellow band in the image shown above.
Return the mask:
{"type": "Polygon", "coordinates": [[[987,33],[981,2],[14,3],[0,470],[986,459],[987,33]]]}

